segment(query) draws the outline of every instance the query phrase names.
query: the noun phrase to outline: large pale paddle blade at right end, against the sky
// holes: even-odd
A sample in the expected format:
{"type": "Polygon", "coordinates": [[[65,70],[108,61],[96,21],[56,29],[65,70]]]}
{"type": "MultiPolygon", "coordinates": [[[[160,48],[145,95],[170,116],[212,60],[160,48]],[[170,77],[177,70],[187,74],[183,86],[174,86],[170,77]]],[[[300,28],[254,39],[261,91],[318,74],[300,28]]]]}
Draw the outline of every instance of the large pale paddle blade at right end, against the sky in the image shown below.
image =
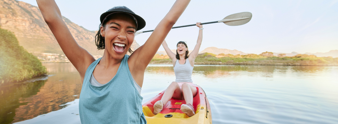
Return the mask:
{"type": "Polygon", "coordinates": [[[252,17],[251,12],[240,12],[228,15],[223,20],[221,20],[221,22],[229,26],[238,26],[248,23],[251,20],[251,17],[252,17]]]}

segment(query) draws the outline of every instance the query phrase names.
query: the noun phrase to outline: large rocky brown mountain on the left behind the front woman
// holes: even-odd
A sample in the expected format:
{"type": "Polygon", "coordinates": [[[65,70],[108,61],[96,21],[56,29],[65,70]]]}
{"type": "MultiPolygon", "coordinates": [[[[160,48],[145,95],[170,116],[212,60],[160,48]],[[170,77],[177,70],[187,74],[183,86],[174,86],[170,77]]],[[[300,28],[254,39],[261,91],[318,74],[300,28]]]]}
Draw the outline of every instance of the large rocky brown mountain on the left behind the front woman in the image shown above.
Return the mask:
{"type": "MultiPolygon", "coordinates": [[[[87,30],[66,17],[63,20],[82,48],[92,55],[102,55],[103,51],[96,49],[96,31],[87,30]]],[[[0,0],[0,26],[13,32],[19,44],[30,53],[63,54],[37,6],[16,0],[0,0]]],[[[133,44],[134,50],[139,47],[137,42],[133,44]]]]}

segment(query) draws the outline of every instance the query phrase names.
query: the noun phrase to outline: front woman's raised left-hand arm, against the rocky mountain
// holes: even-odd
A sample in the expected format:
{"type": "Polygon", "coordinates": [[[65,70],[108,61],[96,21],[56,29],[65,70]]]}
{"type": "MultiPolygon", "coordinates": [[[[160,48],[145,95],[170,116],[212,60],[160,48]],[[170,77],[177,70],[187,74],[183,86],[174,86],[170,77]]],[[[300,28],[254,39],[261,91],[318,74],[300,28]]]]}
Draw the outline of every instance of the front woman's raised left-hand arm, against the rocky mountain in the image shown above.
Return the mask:
{"type": "Polygon", "coordinates": [[[45,22],[62,51],[83,77],[88,66],[95,61],[94,57],[76,43],[67,25],[62,20],[60,9],[54,0],[37,0],[37,3],[45,22]]]}

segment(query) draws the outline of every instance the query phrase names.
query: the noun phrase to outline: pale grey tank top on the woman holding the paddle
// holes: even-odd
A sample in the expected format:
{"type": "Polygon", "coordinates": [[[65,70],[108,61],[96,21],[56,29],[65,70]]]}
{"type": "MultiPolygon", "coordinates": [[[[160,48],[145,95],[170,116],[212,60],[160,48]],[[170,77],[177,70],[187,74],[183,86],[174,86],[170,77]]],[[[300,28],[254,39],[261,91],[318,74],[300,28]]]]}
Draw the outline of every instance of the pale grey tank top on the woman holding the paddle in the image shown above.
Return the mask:
{"type": "Polygon", "coordinates": [[[191,82],[191,74],[194,67],[190,65],[189,59],[186,59],[186,63],[183,65],[179,64],[178,59],[174,66],[174,72],[176,76],[175,82],[191,82]]]}

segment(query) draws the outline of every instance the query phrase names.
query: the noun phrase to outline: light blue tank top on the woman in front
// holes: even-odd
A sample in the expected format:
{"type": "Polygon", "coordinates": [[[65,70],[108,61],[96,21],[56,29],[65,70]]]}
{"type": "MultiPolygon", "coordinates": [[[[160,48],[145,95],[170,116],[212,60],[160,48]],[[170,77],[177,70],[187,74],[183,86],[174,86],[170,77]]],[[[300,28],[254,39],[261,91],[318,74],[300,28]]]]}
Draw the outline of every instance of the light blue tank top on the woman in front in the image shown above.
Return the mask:
{"type": "Polygon", "coordinates": [[[84,75],[79,111],[82,124],[146,124],[142,99],[134,86],[125,55],[116,75],[103,86],[95,87],[89,79],[101,58],[84,75]]]}

